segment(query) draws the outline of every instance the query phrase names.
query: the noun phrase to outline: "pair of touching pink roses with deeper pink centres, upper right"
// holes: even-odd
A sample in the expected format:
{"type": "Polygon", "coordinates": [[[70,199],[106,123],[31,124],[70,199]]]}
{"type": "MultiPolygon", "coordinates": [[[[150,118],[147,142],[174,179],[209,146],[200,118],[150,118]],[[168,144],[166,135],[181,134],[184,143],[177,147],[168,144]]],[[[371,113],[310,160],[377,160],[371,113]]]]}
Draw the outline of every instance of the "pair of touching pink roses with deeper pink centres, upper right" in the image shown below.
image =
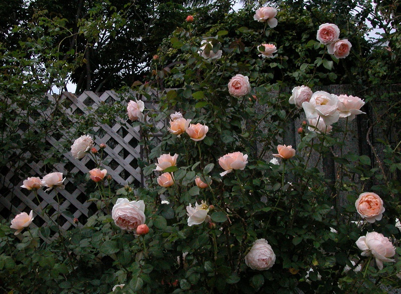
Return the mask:
{"type": "Polygon", "coordinates": [[[348,39],[339,39],[340,29],[333,23],[320,24],[316,38],[322,44],[327,45],[327,52],[337,58],[345,58],[351,49],[348,39]]]}

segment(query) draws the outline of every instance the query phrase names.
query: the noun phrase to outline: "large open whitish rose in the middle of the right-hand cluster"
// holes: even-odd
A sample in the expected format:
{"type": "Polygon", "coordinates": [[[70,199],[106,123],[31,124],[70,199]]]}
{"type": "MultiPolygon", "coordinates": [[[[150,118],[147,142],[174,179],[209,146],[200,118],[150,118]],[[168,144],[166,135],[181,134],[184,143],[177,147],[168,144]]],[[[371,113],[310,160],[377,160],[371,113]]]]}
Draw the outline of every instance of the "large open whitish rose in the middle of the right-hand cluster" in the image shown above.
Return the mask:
{"type": "Polygon", "coordinates": [[[317,91],[312,94],[309,102],[303,102],[307,118],[317,118],[324,120],[326,125],[331,125],[338,121],[340,113],[337,110],[338,97],[325,91],[317,91]]]}

